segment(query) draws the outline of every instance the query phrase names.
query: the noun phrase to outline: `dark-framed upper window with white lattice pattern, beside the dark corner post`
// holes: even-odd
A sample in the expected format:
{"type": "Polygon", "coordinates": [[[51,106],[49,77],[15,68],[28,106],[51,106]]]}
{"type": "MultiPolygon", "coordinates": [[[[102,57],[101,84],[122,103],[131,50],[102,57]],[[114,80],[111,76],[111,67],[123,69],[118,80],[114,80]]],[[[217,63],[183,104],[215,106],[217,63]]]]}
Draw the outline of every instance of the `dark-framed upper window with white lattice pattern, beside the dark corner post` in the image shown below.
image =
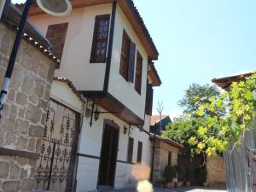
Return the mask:
{"type": "Polygon", "coordinates": [[[90,52],[90,62],[105,62],[108,47],[108,28],[110,15],[97,15],[90,52]]]}

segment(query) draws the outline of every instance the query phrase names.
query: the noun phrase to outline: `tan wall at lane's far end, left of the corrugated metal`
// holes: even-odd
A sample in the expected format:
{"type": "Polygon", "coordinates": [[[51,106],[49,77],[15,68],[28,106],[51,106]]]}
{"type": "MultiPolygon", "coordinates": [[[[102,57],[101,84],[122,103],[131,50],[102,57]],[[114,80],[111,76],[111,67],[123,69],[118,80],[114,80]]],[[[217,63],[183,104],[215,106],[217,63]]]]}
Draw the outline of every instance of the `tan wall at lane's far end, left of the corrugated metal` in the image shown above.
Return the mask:
{"type": "Polygon", "coordinates": [[[226,182],[224,160],[222,157],[207,157],[207,182],[210,185],[226,182]]]}

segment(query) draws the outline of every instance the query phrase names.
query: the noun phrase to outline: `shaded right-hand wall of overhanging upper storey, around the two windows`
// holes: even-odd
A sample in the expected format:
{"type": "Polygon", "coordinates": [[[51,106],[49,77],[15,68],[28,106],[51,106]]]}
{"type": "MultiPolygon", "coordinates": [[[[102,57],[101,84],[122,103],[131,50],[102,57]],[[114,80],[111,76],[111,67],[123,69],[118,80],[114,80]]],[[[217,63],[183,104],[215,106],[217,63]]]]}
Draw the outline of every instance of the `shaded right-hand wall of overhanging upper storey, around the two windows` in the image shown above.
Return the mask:
{"type": "MultiPolygon", "coordinates": [[[[148,55],[143,49],[143,45],[137,38],[136,33],[131,28],[130,23],[126,19],[122,10],[117,6],[115,26],[113,32],[113,54],[112,62],[110,68],[109,86],[108,91],[113,96],[115,96],[120,102],[124,103],[132,112],[136,113],[141,119],[144,119],[144,109],[145,109],[145,98],[146,98],[146,88],[147,88],[147,65],[148,65],[148,55]],[[120,55],[123,39],[123,30],[129,35],[131,41],[136,44],[136,49],[143,56],[143,77],[142,77],[142,90],[141,95],[135,90],[135,84],[127,82],[119,74],[120,66],[120,55]]],[[[136,51],[137,53],[137,51],[136,51]]],[[[136,59],[135,59],[136,62],[136,59]]],[[[136,63],[135,63],[136,66],[136,63]]],[[[135,71],[134,71],[135,73],[135,71]]],[[[135,75],[134,75],[135,78],[135,75]]]]}

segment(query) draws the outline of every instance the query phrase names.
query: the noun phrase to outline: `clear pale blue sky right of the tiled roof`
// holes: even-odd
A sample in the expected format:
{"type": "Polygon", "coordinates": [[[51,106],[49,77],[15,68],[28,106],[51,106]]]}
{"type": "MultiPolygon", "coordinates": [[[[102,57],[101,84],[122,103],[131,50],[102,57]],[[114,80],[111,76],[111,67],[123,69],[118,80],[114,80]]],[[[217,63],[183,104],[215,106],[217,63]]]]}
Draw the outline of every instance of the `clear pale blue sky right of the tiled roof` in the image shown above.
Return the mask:
{"type": "MultiPolygon", "coordinates": [[[[24,2],[24,1],[13,1],[24,2]]],[[[163,84],[154,89],[154,113],[182,111],[189,84],[256,71],[255,0],[134,0],[160,56],[163,84]]]]}

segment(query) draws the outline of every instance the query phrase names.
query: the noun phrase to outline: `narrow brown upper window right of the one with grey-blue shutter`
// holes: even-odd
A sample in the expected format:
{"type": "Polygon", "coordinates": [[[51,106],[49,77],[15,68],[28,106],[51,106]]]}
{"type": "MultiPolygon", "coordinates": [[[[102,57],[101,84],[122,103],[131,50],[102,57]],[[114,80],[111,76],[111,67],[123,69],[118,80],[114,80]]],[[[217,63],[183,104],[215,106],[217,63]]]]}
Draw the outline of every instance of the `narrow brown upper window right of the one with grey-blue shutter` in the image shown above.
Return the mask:
{"type": "Polygon", "coordinates": [[[143,56],[137,51],[136,73],[135,73],[135,90],[141,94],[143,75],[143,56]]]}

